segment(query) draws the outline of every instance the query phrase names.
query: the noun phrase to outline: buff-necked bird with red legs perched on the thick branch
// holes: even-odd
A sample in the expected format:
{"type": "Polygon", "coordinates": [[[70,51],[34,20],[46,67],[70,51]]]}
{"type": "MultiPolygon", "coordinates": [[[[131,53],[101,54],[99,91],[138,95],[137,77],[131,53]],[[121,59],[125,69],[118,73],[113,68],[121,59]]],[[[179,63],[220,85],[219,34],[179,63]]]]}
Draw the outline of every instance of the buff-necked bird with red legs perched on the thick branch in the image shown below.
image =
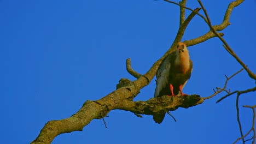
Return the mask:
{"type": "MultiPolygon", "coordinates": [[[[193,70],[193,62],[189,57],[187,46],[179,42],[176,51],[170,53],[160,64],[156,72],[156,88],[154,98],[177,96],[188,96],[184,94],[182,89],[186,85],[193,70]]],[[[153,115],[156,123],[161,123],[164,120],[165,113],[153,115]]]]}

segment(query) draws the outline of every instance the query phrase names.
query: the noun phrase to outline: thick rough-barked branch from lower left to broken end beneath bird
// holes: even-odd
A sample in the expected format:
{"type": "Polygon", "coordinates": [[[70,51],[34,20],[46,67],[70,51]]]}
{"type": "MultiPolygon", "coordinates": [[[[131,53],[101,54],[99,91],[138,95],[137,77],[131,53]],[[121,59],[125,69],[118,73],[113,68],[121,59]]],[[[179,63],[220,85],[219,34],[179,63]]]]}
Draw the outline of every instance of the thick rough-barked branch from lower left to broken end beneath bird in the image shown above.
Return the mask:
{"type": "Polygon", "coordinates": [[[69,118],[59,121],[49,121],[44,125],[39,136],[32,143],[51,143],[54,137],[59,134],[82,131],[85,125],[89,124],[92,119],[103,118],[109,111],[114,109],[153,115],[162,111],[173,111],[178,109],[178,107],[188,108],[203,103],[203,99],[199,95],[171,98],[165,96],[152,98],[147,101],[129,101],[127,99],[121,99],[122,95],[129,93],[129,90],[125,89],[126,87],[119,88],[100,100],[87,100],[82,108],[69,118]]]}

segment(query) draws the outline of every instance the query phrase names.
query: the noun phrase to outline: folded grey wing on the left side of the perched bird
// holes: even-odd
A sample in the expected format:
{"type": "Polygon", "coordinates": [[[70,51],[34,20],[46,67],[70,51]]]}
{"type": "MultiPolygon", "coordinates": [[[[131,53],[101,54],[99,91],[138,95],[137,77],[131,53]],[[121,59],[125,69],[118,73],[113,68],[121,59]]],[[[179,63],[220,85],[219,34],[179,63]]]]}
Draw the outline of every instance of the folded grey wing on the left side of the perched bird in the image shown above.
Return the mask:
{"type": "Polygon", "coordinates": [[[160,64],[158,71],[156,72],[156,88],[154,97],[159,97],[159,93],[163,88],[169,85],[168,80],[170,76],[171,69],[171,59],[173,54],[168,55],[160,64]]]}

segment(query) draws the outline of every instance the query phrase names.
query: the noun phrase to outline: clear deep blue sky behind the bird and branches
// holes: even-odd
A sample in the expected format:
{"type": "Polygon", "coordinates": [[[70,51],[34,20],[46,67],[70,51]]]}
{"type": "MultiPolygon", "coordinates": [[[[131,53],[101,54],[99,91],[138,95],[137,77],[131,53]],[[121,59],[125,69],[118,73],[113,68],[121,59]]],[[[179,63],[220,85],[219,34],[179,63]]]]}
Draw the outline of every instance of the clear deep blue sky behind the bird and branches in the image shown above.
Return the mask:
{"type": "MultiPolygon", "coordinates": [[[[231,1],[202,2],[217,25],[231,1]]],[[[200,7],[196,1],[187,6],[200,7]]],[[[256,73],[256,1],[236,7],[230,22],[224,39],[256,73]]],[[[126,71],[129,57],[133,69],[146,73],[171,46],[178,27],[179,7],[164,1],[1,0],[1,143],[30,143],[48,121],[70,117],[86,100],[104,97],[121,78],[135,80],[126,71]]],[[[195,16],[183,40],[208,31],[195,16]]],[[[217,38],[188,49],[194,69],[184,93],[207,97],[224,86],[225,74],[241,69],[217,38]]],[[[228,83],[231,91],[252,87],[246,71],[228,83]]],[[[154,97],[154,90],[152,80],[135,100],[154,97]]],[[[240,97],[243,133],[251,128],[252,110],[241,106],[255,105],[255,94],[240,97]]],[[[108,128],[94,119],[83,131],[61,134],[52,143],[232,143],[240,137],[236,95],[216,104],[224,95],[171,112],[177,122],[166,115],[156,124],[152,116],[114,110],[105,118],[108,128]]]]}

